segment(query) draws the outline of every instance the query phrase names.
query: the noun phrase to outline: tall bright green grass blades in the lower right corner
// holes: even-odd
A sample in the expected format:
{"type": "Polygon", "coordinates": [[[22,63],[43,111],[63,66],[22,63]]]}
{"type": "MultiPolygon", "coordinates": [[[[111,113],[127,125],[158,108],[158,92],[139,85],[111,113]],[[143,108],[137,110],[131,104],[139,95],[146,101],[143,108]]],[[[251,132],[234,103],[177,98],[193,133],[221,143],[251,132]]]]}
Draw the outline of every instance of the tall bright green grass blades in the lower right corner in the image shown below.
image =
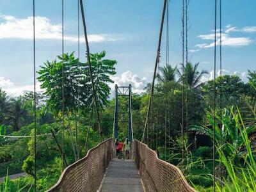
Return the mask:
{"type": "MultiPolygon", "coordinates": [[[[239,129],[239,134],[241,134],[244,141],[244,153],[243,153],[243,164],[235,165],[232,161],[228,159],[223,150],[221,150],[220,145],[217,147],[217,152],[220,156],[219,161],[225,166],[228,177],[217,182],[218,190],[222,191],[256,191],[256,163],[255,163],[255,151],[252,150],[248,134],[246,132],[246,126],[244,125],[243,118],[239,109],[237,108],[237,113],[232,111],[233,118],[236,122],[236,127],[239,129]]],[[[225,145],[230,145],[230,143],[225,143],[225,145]]]]}

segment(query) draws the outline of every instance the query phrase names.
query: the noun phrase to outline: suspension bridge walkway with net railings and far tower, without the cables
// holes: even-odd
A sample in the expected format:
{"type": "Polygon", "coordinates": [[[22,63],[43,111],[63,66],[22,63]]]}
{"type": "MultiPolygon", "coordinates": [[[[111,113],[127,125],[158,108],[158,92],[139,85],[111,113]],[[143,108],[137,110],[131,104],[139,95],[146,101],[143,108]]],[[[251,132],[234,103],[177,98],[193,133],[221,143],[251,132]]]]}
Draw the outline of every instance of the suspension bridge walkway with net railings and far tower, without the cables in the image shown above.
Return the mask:
{"type": "Polygon", "coordinates": [[[85,157],[65,168],[49,191],[194,191],[179,168],[162,161],[145,143],[133,139],[131,102],[131,84],[116,85],[113,138],[90,149],[85,157]],[[119,111],[118,97],[128,97],[127,113],[119,111]],[[118,122],[129,124],[131,160],[116,159],[118,122]]]}

